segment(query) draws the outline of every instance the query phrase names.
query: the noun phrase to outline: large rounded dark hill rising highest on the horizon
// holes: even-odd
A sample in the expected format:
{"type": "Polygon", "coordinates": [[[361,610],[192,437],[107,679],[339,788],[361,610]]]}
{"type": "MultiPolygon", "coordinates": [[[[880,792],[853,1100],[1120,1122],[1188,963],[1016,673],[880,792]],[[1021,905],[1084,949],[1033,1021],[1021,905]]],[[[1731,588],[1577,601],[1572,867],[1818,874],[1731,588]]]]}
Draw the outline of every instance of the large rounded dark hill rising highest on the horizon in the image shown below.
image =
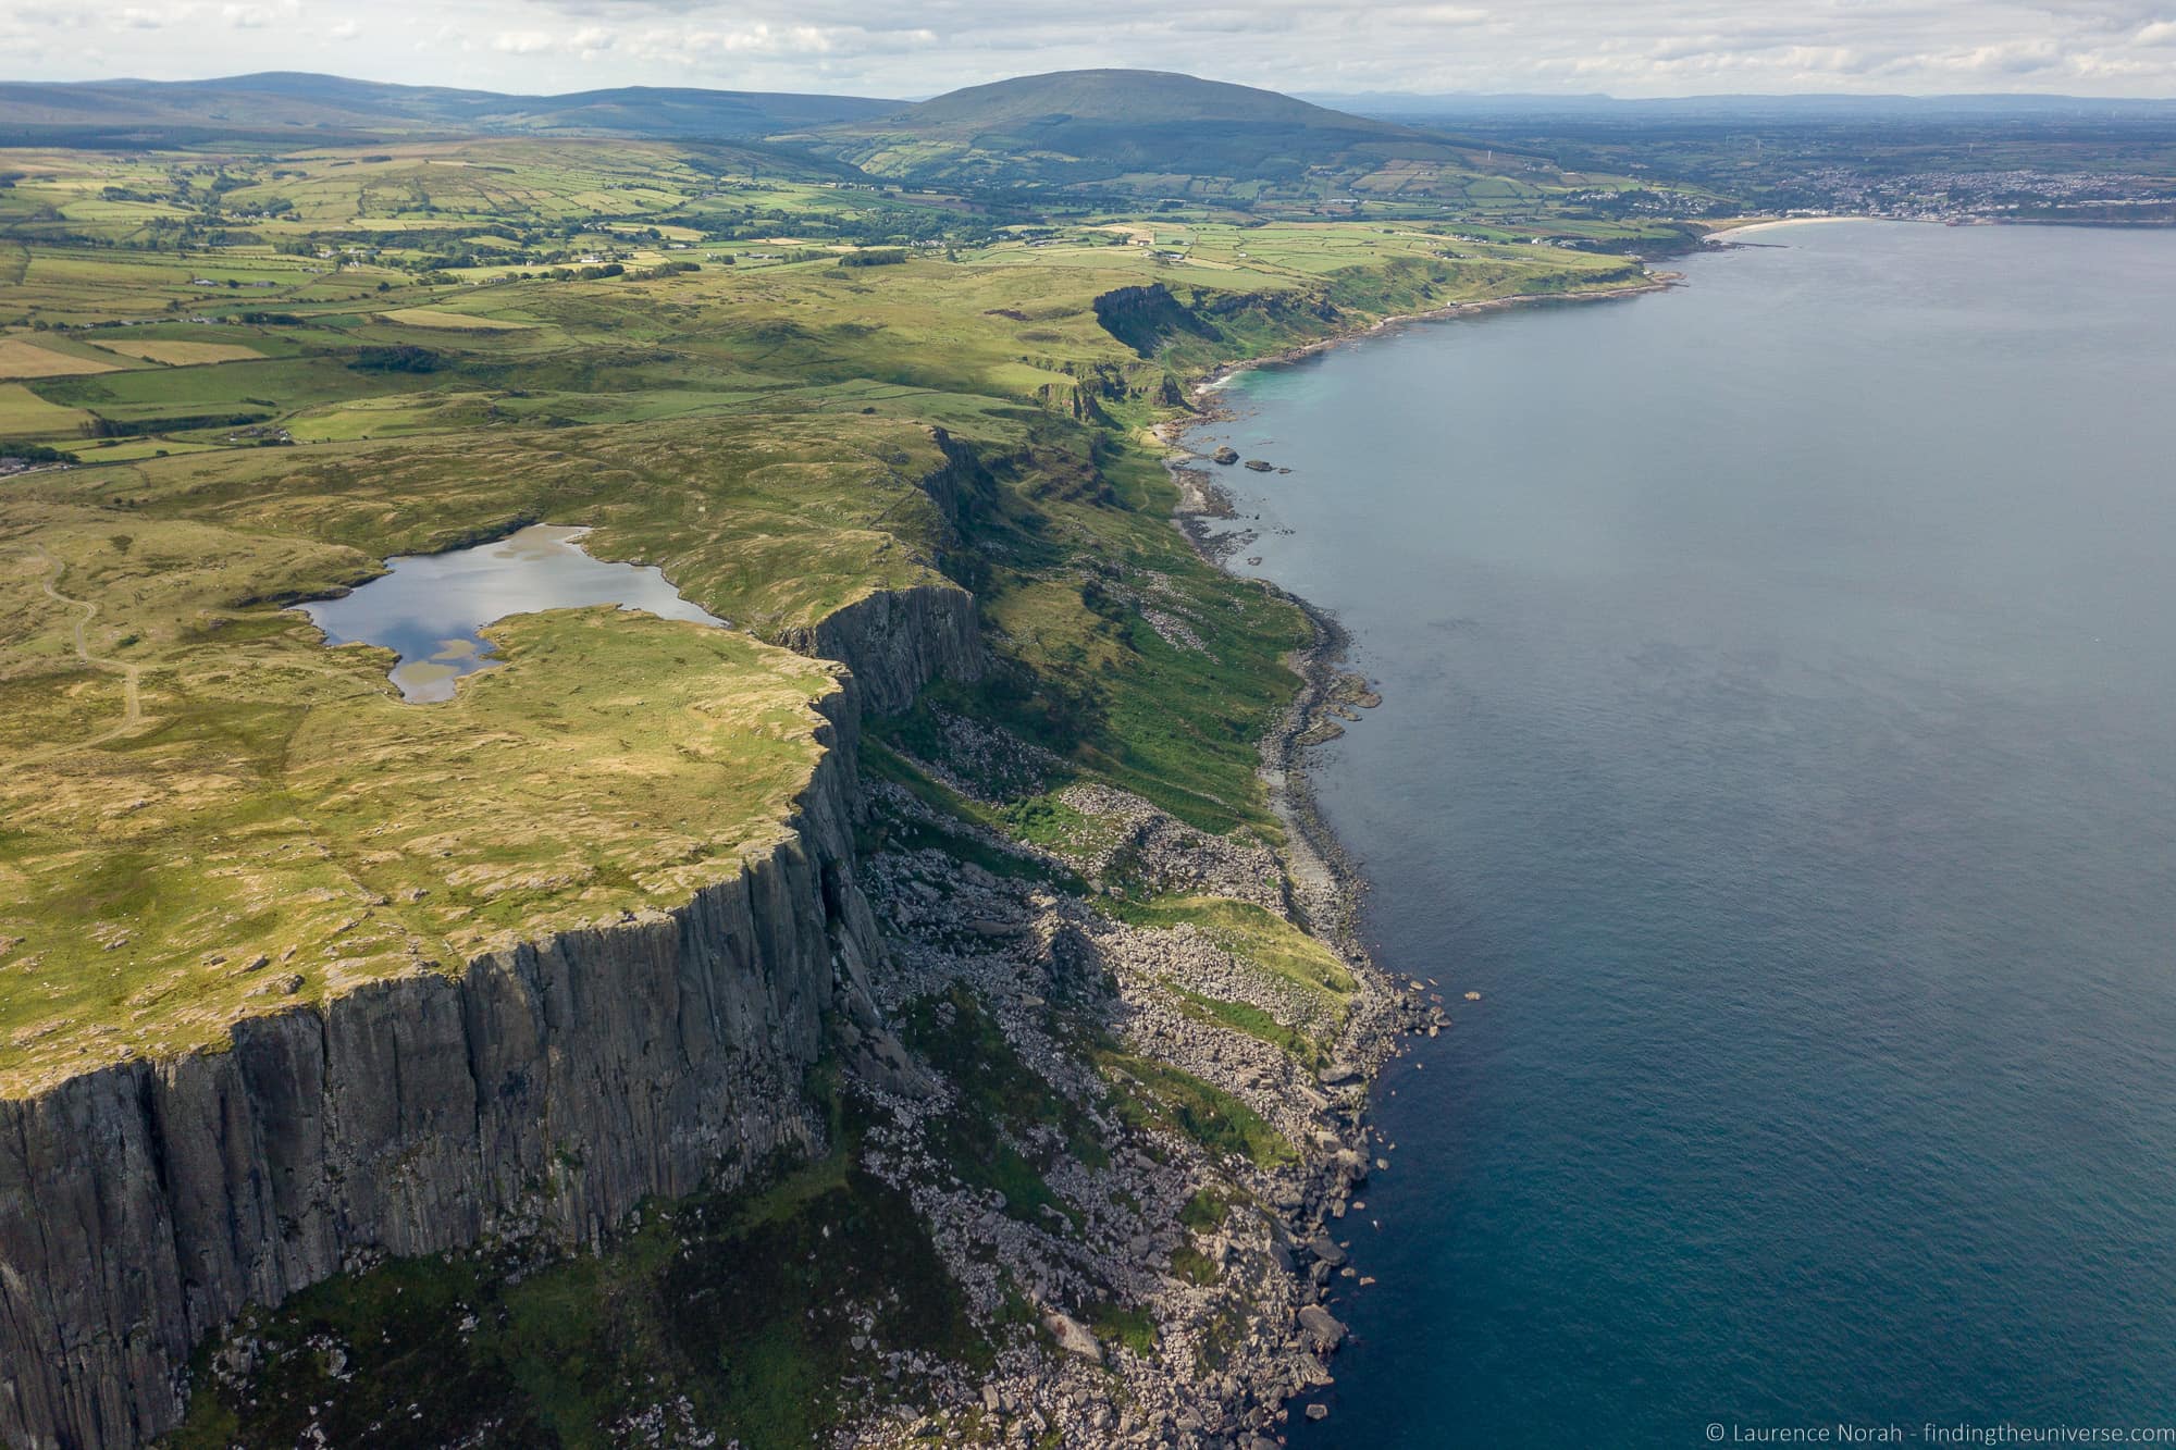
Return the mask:
{"type": "Polygon", "coordinates": [[[949,185],[1201,194],[1284,183],[1425,194],[1478,170],[1475,152],[1443,135],[1153,70],[970,85],[796,139],[875,176],[949,185]]]}

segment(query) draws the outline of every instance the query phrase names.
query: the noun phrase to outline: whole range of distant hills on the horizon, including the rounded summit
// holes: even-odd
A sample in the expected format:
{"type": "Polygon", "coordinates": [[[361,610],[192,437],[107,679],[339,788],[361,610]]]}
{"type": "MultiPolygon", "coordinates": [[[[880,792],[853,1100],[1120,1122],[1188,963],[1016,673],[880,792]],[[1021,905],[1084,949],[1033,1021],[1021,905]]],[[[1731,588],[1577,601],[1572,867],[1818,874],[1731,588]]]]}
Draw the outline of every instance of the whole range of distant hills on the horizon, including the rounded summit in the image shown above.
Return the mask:
{"type": "Polygon", "coordinates": [[[1149,70],[1018,76],[918,105],[668,87],[500,96],[302,72],[0,83],[0,146],[450,137],[731,142],[838,176],[857,168],[914,185],[1238,205],[1356,196],[1501,205],[1565,185],[1538,155],[1504,142],[1486,150],[1277,91],[1149,70]]]}

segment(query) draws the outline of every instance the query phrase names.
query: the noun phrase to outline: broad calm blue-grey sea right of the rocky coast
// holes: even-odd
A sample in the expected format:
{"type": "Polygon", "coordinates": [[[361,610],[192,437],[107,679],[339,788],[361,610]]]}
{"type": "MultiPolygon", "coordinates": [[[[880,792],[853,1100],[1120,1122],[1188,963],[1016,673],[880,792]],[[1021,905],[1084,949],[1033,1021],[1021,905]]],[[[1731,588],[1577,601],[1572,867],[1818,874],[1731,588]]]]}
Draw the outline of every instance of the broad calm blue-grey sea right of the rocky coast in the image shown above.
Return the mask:
{"type": "Polygon", "coordinates": [[[1758,239],[1206,433],[1456,1008],[1295,1446],[2176,1424],[2176,235],[1758,239]]]}

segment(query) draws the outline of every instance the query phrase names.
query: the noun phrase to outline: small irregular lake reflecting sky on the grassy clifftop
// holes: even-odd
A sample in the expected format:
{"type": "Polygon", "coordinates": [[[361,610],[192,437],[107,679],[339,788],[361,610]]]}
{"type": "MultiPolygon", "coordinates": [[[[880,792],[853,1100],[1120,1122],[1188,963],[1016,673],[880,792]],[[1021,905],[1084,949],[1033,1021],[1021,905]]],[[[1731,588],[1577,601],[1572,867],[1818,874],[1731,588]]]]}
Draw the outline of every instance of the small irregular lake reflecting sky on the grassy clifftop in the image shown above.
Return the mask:
{"type": "Polygon", "coordinates": [[[403,553],[342,599],[300,605],[329,644],[385,644],[392,681],[409,701],[453,699],[453,681],[494,664],[479,634],[509,614],[616,603],[659,618],[725,620],[681,599],[657,568],[607,564],[581,551],[588,529],[529,525],[446,553],[403,553]]]}

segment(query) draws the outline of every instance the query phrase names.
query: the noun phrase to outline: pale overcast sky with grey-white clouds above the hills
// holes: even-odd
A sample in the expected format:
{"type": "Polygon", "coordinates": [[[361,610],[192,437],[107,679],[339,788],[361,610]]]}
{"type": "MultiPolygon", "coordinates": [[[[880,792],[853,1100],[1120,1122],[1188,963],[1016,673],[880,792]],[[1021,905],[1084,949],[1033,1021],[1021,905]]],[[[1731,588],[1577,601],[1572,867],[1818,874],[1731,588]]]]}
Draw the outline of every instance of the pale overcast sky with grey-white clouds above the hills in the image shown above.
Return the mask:
{"type": "Polygon", "coordinates": [[[2176,98],[2176,0],[0,0],[0,76],[322,70],[931,96],[1140,65],[1286,91],[2176,98]]]}

